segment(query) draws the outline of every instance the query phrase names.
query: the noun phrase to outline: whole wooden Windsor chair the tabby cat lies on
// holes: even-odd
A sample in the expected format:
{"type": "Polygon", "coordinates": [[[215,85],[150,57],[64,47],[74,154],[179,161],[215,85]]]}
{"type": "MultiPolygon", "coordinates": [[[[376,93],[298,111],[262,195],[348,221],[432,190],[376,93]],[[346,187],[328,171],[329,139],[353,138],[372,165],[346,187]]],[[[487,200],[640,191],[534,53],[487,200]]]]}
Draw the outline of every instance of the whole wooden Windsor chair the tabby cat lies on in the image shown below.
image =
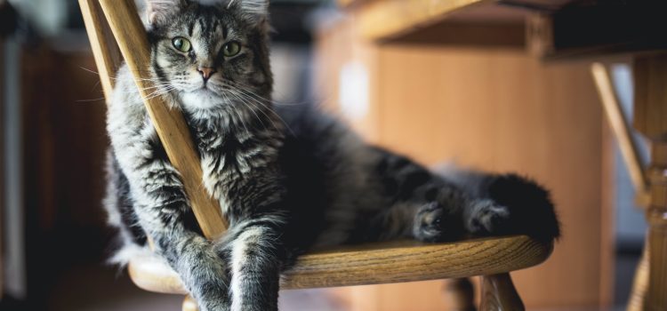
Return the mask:
{"type": "MultiPolygon", "coordinates": [[[[150,81],[146,32],[133,0],[79,0],[92,52],[105,96],[113,89],[113,76],[125,59],[139,90],[150,81]],[[119,49],[118,49],[119,48],[119,49]]],[[[197,222],[207,238],[221,236],[227,223],[219,203],[199,187],[202,171],[196,149],[181,111],[167,108],[160,98],[141,91],[167,156],[180,171],[197,222]]],[[[552,244],[526,235],[480,238],[454,243],[396,241],[318,251],[301,256],[281,278],[281,289],[399,283],[455,279],[449,286],[454,307],[475,309],[467,277],[482,276],[482,310],[523,310],[510,271],[532,267],[550,256],[552,244]]],[[[146,291],[187,294],[179,276],[156,257],[131,259],[129,274],[146,291]]],[[[186,298],[183,310],[197,310],[186,298]]]]}

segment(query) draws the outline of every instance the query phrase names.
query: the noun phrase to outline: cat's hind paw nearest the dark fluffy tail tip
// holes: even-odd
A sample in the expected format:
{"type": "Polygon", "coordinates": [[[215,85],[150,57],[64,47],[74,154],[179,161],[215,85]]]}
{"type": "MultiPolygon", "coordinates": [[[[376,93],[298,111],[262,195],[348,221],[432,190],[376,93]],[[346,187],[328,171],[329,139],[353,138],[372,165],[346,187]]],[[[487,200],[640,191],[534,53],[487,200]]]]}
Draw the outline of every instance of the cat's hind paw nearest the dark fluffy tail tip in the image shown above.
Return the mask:
{"type": "Polygon", "coordinates": [[[472,234],[502,234],[510,223],[510,210],[493,200],[477,200],[470,206],[465,220],[466,229],[472,234]]]}

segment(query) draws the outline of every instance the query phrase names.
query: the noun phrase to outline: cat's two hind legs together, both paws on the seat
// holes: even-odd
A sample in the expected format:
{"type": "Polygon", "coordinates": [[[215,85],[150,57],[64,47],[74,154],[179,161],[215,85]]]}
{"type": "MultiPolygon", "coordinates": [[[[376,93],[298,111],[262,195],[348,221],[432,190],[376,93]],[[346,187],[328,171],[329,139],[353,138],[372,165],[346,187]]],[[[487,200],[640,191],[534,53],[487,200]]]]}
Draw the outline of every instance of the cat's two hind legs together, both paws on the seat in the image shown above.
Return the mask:
{"type": "Polygon", "coordinates": [[[403,156],[379,149],[376,172],[390,207],[374,215],[365,240],[414,237],[440,242],[462,235],[499,234],[509,225],[502,204],[471,192],[403,156]]]}

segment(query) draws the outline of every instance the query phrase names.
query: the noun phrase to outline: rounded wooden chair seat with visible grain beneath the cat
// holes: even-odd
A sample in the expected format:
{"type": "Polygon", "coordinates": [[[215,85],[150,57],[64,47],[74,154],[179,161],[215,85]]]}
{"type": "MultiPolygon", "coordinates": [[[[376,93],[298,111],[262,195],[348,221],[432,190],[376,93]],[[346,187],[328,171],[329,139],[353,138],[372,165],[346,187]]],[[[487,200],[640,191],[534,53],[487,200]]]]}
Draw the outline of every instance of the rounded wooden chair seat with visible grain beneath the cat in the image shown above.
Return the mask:
{"type": "MultiPolygon", "coordinates": [[[[473,275],[495,275],[532,267],[547,259],[552,245],[526,235],[450,243],[400,240],[369,243],[302,255],[281,278],[282,289],[399,283],[473,275]]],[[[128,267],[146,291],[187,294],[179,276],[157,256],[141,256],[128,267]]]]}

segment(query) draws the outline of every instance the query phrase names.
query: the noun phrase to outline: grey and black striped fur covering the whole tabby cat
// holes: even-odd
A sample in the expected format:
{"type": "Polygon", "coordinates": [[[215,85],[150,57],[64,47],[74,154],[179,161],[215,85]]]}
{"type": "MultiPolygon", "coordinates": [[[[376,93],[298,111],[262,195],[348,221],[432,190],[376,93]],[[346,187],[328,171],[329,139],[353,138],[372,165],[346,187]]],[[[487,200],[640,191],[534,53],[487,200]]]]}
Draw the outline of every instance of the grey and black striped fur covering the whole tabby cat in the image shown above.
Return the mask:
{"type": "Polygon", "coordinates": [[[436,174],[360,140],[307,107],[274,108],[261,0],[148,0],[151,96],[181,109],[197,143],[203,185],[229,232],[200,234],[126,67],[108,105],[109,224],[123,263],[146,235],[202,310],[275,310],[278,280],[303,251],[399,236],[559,235],[549,195],[516,175],[436,174]],[[173,4],[173,5],[168,5],[173,4]],[[179,52],[172,39],[189,39],[179,52]],[[238,42],[234,56],[221,54],[238,42]],[[203,79],[197,68],[213,68],[203,79]],[[539,221],[538,224],[535,222],[539,221]]]}

